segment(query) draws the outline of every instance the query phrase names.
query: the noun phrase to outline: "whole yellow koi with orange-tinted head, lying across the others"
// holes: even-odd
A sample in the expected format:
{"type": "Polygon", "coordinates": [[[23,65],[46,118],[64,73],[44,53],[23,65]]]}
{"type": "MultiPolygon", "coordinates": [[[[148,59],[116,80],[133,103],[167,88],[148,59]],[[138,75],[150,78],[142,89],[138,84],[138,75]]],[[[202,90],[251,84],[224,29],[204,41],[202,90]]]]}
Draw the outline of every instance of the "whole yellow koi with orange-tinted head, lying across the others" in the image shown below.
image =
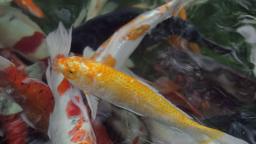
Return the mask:
{"type": "Polygon", "coordinates": [[[222,131],[204,127],[147,83],[83,57],[61,58],[58,69],[74,86],[116,106],[155,119],[189,134],[198,143],[245,144],[222,131]]]}

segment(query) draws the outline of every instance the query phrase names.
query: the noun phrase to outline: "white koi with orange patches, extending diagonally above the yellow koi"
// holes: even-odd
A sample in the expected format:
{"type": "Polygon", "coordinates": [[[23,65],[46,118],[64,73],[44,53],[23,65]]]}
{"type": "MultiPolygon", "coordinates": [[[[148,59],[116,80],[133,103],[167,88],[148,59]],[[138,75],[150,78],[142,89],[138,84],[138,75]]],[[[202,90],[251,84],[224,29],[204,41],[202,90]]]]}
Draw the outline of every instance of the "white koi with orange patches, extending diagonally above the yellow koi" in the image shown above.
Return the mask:
{"type": "Polygon", "coordinates": [[[146,33],[150,32],[158,23],[170,17],[174,9],[190,1],[171,1],[137,16],[105,41],[97,49],[92,59],[97,62],[108,63],[108,65],[114,66],[115,69],[119,69],[136,49],[146,33]]]}

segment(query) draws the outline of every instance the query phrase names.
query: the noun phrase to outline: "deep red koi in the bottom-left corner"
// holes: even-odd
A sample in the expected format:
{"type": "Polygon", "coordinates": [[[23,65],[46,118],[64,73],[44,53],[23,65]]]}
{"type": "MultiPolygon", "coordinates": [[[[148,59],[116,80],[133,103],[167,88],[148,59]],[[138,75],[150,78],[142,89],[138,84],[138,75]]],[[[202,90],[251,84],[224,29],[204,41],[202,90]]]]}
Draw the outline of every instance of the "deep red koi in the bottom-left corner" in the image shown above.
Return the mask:
{"type": "Polygon", "coordinates": [[[28,125],[21,118],[21,113],[0,115],[0,127],[3,128],[7,143],[26,144],[28,125]]]}

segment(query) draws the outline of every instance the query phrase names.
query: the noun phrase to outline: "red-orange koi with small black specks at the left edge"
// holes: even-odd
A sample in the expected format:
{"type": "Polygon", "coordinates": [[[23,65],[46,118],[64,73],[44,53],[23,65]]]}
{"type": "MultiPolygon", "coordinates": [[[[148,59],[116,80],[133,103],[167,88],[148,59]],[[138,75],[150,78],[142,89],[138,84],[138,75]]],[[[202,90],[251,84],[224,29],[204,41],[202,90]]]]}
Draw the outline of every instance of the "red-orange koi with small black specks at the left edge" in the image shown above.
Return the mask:
{"type": "Polygon", "coordinates": [[[18,103],[22,117],[31,127],[46,133],[49,116],[53,111],[54,98],[51,90],[40,80],[28,77],[13,63],[0,56],[0,88],[7,97],[18,103]]]}

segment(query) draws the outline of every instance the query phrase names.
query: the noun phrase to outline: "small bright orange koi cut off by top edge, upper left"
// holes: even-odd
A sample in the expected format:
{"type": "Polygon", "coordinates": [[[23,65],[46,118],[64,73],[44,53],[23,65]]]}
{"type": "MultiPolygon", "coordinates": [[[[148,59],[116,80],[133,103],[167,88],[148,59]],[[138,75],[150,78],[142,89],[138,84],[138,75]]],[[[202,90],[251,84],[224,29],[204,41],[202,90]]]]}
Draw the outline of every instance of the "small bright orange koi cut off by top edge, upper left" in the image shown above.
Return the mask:
{"type": "Polygon", "coordinates": [[[43,11],[40,8],[38,8],[37,5],[34,4],[31,0],[14,0],[14,3],[16,3],[19,7],[30,12],[32,15],[36,17],[44,17],[43,11]]]}

